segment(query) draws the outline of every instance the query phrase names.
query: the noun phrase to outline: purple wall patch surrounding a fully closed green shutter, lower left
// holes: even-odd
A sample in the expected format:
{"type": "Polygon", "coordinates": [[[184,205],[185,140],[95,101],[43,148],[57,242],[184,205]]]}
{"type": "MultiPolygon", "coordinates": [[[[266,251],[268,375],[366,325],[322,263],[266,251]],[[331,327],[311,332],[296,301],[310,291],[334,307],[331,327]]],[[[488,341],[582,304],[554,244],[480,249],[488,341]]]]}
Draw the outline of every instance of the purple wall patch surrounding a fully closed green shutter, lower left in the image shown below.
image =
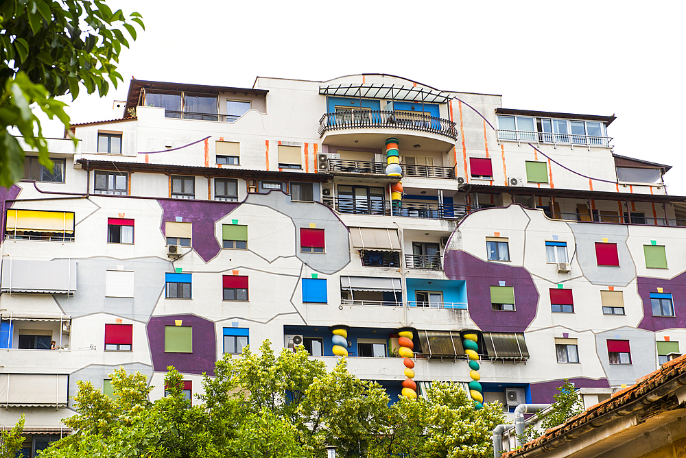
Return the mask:
{"type": "Polygon", "coordinates": [[[167,372],[167,366],[172,365],[186,374],[214,375],[217,339],[213,322],[196,315],[169,315],[152,317],[145,327],[154,370],[167,372]],[[165,326],[174,326],[175,320],[182,320],[183,326],[193,326],[192,353],[165,353],[165,326]]]}

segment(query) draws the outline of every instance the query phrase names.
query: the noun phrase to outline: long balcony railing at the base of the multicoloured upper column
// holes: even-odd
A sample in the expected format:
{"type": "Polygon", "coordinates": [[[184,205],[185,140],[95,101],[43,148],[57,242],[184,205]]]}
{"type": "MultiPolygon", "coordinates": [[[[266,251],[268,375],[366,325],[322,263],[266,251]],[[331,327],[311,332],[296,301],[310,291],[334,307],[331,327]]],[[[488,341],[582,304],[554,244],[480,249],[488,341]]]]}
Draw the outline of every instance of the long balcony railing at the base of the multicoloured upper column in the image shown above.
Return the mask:
{"type": "Polygon", "coordinates": [[[404,216],[425,219],[460,219],[467,213],[481,208],[477,205],[423,202],[402,202],[400,208],[395,208],[388,200],[366,200],[353,197],[326,197],[324,204],[347,215],[404,216]]]}

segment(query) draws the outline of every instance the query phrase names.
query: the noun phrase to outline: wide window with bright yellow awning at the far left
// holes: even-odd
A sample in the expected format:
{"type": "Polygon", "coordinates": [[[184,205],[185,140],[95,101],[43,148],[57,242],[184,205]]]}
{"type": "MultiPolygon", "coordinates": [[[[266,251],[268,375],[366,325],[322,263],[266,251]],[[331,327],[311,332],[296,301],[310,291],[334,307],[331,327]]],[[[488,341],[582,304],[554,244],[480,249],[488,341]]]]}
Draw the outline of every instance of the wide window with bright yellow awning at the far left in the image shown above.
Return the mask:
{"type": "Polygon", "coordinates": [[[74,241],[74,213],[7,210],[5,239],[74,241]]]}

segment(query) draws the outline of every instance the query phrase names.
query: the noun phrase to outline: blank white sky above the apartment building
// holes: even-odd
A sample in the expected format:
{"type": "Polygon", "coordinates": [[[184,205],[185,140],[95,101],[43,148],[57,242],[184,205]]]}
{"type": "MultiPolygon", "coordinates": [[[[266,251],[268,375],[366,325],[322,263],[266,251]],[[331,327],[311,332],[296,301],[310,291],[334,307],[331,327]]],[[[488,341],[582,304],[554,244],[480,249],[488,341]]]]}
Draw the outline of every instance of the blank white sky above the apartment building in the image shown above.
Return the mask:
{"type": "Polygon", "coordinates": [[[686,195],[683,147],[667,142],[683,129],[667,125],[686,105],[683,1],[107,3],[143,14],[146,30],[121,55],[123,84],[103,99],[83,92],[68,110],[73,123],[110,119],[131,77],[252,87],[257,76],[389,73],[501,94],[506,108],[614,113],[614,152],[673,165],[668,193],[686,195]]]}

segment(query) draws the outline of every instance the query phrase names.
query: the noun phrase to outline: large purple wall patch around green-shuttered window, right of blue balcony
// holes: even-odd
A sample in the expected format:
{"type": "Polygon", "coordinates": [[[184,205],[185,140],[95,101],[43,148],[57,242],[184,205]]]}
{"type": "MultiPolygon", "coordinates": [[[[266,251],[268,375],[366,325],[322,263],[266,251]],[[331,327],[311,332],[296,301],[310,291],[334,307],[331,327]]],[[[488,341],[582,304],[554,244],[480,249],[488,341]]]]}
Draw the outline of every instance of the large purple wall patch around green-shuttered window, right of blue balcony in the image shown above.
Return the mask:
{"type": "Polygon", "coordinates": [[[488,263],[462,250],[445,252],[443,270],[451,280],[465,280],[471,319],[485,331],[523,333],[536,316],[539,291],[523,267],[488,263]],[[490,287],[514,287],[516,312],[495,311],[490,305],[490,287]]]}

